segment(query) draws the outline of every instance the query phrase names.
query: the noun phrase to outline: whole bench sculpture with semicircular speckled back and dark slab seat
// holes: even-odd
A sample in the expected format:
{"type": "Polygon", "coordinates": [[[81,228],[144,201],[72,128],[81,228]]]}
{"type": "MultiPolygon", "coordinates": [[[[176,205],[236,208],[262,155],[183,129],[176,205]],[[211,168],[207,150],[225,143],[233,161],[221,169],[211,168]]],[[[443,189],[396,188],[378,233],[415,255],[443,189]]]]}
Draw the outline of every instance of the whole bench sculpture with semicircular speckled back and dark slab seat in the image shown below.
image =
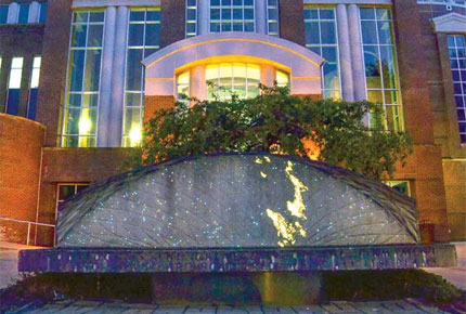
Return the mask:
{"type": "Polygon", "coordinates": [[[413,198],[340,167],[269,154],[187,157],[111,178],[63,206],[56,236],[55,248],[22,251],[20,271],[147,273],[157,291],[164,273],[237,274],[270,302],[286,274],[308,289],[319,271],[456,263],[453,246],[420,244],[413,198]]]}

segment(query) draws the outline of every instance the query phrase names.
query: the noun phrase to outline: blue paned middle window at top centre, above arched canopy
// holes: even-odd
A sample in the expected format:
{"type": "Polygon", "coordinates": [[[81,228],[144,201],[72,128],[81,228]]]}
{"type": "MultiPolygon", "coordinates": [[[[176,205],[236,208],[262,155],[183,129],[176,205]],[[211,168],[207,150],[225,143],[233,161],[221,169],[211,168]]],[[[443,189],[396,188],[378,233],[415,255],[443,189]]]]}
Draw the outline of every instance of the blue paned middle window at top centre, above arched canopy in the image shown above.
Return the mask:
{"type": "Polygon", "coordinates": [[[210,0],[210,32],[255,31],[254,0],[210,0]]]}

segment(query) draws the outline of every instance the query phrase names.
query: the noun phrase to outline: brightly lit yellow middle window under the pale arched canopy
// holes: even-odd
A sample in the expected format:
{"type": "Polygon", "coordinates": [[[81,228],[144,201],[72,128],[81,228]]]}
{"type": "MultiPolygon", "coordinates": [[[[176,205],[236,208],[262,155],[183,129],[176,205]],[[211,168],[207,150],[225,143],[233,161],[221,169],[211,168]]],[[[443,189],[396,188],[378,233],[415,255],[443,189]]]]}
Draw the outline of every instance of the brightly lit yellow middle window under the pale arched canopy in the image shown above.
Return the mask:
{"type": "Polygon", "coordinates": [[[222,63],[206,67],[207,100],[253,99],[260,94],[260,67],[255,64],[222,63]]]}

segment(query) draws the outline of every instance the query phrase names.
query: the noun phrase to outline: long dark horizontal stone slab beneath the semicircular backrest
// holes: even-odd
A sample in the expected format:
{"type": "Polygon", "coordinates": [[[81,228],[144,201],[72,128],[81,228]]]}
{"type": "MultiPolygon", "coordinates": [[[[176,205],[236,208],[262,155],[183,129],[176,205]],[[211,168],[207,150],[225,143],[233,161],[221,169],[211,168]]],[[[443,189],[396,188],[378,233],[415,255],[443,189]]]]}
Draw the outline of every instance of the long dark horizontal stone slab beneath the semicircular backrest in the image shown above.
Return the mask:
{"type": "Polygon", "coordinates": [[[456,265],[453,245],[353,247],[117,249],[55,248],[20,252],[20,272],[303,272],[456,265]]]}

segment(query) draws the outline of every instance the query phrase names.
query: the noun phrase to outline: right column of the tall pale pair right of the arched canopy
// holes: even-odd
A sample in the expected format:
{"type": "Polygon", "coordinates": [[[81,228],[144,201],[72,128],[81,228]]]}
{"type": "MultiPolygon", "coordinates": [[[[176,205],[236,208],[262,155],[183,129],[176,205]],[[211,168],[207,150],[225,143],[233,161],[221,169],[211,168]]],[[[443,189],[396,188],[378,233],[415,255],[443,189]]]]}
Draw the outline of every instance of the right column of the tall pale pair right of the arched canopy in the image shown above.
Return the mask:
{"type": "Polygon", "coordinates": [[[361,42],[361,25],[359,8],[355,4],[348,6],[348,29],[351,49],[352,79],[354,88],[354,101],[366,99],[365,69],[361,42]]]}

